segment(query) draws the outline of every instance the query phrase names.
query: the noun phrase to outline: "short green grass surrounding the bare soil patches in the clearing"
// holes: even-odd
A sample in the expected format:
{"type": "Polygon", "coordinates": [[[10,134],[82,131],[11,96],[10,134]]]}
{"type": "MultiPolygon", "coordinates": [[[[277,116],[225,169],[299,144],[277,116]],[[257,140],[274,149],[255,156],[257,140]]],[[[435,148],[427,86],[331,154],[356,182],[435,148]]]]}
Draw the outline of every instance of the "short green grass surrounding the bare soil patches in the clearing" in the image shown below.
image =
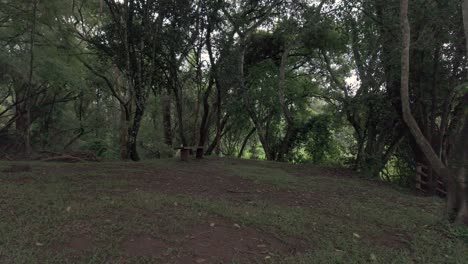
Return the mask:
{"type": "MultiPolygon", "coordinates": [[[[228,165],[226,174],[278,189],[308,190],[325,203],[291,207],[261,195],[249,202],[202,194],[165,195],[135,188],[139,186],[129,177],[155,169],[176,173],[179,163],[171,162],[32,163],[32,172],[0,173],[0,262],[116,263],[123,258],[127,263],[164,262],[158,257],[126,256],[121,241],[139,233],[171,241],[213,216],[283,240],[298,239],[309,247],[304,254],[277,256],[271,263],[466,263],[468,259],[468,229],[441,222],[443,205],[437,199],[359,179],[297,177],[281,168],[245,164],[228,165]],[[91,250],[79,253],[66,247],[80,234],[92,238],[91,250]]],[[[9,165],[0,162],[0,168],[9,165]]],[[[180,252],[171,247],[166,254],[177,257],[180,252]]]]}

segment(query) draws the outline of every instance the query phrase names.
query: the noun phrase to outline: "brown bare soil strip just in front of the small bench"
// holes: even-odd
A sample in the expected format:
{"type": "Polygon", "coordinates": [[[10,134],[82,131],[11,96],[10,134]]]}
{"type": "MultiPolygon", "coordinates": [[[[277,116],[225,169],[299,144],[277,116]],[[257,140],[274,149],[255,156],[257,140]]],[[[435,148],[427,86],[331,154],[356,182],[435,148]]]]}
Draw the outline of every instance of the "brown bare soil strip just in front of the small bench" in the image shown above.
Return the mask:
{"type": "MultiPolygon", "coordinates": [[[[252,161],[234,160],[234,164],[252,161]]],[[[291,165],[288,165],[288,167],[291,165]]],[[[319,206],[326,198],[319,194],[279,189],[267,184],[232,175],[224,168],[222,160],[180,162],[170,170],[148,168],[145,172],[129,175],[114,172],[114,177],[131,181],[132,189],[165,194],[183,194],[209,198],[224,198],[236,202],[258,200],[275,201],[286,206],[319,206]]]]}

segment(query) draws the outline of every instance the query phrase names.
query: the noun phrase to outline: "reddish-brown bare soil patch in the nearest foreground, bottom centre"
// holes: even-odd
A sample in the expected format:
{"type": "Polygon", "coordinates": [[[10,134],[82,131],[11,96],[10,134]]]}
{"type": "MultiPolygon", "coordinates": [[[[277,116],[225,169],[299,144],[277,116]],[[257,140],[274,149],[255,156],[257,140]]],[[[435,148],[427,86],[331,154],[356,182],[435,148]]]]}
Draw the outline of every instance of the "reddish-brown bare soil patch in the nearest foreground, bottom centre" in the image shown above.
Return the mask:
{"type": "Polygon", "coordinates": [[[212,218],[184,234],[138,234],[121,243],[128,256],[158,257],[169,263],[229,263],[295,255],[307,245],[296,239],[280,239],[251,227],[241,227],[223,218],[212,218]],[[170,254],[171,251],[177,254],[170,254]]]}

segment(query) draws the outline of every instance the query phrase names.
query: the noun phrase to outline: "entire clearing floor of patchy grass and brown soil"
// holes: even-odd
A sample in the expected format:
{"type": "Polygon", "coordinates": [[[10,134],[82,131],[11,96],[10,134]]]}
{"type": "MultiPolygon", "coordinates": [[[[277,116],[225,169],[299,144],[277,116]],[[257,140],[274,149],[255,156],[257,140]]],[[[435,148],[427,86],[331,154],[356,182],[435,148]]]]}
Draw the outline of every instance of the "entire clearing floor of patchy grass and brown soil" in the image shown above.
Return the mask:
{"type": "Polygon", "coordinates": [[[441,200],[346,170],[30,164],[0,173],[0,263],[468,263],[441,200]]]}

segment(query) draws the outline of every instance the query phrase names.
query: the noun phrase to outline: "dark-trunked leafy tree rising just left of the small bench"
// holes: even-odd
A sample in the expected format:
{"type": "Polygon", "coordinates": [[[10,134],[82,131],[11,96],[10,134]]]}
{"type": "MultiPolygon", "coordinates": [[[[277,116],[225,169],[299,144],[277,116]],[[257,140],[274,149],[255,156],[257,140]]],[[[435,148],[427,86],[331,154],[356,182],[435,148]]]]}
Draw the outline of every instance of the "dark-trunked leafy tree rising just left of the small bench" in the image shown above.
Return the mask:
{"type": "MultiPolygon", "coordinates": [[[[84,20],[81,7],[75,16],[80,24],[76,32],[90,44],[92,49],[100,51],[102,59],[111,60],[125,78],[125,96],[115,84],[99,70],[84,62],[97,76],[103,78],[112,95],[120,102],[125,112],[126,158],[138,161],[137,137],[145,113],[149,93],[155,85],[157,68],[156,53],[160,48],[160,34],[165,16],[165,7],[156,1],[146,1],[142,5],[135,0],[105,0],[107,6],[103,31],[87,30],[96,25],[89,25],[84,20]]],[[[102,23],[100,21],[99,23],[102,23]]],[[[97,23],[97,24],[99,24],[97,23]]]]}

